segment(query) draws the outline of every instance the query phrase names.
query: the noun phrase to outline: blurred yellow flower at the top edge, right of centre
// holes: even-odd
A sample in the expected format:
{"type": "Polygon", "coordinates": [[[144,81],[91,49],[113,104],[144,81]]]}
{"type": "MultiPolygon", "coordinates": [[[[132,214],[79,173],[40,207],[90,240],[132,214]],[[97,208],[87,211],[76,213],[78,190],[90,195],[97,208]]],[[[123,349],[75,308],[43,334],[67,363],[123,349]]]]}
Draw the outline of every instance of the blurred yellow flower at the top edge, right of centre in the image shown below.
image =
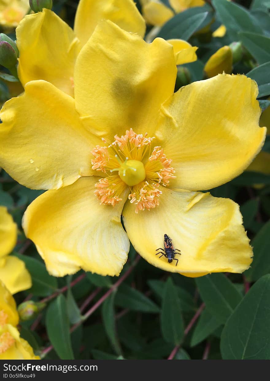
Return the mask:
{"type": "Polygon", "coordinates": [[[204,0],[169,0],[171,8],[159,0],[144,0],[142,2],[143,17],[148,24],[162,26],[175,14],[194,6],[203,6],[204,0]]]}

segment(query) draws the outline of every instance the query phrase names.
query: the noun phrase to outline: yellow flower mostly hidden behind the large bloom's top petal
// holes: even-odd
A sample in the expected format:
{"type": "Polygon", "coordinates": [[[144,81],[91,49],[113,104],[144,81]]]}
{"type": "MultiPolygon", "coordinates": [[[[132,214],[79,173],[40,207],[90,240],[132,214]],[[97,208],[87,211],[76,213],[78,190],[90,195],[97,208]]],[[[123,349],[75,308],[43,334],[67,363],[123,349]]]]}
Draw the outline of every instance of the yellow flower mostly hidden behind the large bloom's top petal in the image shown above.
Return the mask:
{"type": "MultiPolygon", "coordinates": [[[[16,29],[21,83],[43,79],[74,97],[77,56],[102,19],[142,37],[145,34],[145,21],[132,0],[80,0],[74,31],[50,10],[26,16],[16,29]]],[[[187,42],[180,47],[178,41],[182,40],[175,42],[177,64],[195,61],[197,48],[187,42]]]]}

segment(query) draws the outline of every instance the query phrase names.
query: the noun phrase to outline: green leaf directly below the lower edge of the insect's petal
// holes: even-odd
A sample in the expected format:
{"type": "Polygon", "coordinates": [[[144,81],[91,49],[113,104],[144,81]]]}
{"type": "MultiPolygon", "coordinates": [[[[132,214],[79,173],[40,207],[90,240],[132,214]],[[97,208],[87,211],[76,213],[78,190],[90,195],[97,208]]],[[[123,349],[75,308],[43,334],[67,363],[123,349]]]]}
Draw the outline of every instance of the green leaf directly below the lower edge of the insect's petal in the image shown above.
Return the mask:
{"type": "Polygon", "coordinates": [[[223,274],[204,275],[195,281],[208,311],[220,323],[225,323],[241,301],[242,295],[223,274]]]}

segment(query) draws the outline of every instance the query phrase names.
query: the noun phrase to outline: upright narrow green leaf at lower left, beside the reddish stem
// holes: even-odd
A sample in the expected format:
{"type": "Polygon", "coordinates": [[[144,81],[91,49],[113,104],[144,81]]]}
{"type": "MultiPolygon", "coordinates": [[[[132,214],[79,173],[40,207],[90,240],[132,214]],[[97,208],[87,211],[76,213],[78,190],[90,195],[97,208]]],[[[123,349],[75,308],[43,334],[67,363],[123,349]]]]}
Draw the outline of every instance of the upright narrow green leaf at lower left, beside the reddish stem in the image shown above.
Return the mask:
{"type": "Polygon", "coordinates": [[[48,307],[46,329],[51,344],[62,360],[74,360],[66,299],[59,295],[48,307]]]}

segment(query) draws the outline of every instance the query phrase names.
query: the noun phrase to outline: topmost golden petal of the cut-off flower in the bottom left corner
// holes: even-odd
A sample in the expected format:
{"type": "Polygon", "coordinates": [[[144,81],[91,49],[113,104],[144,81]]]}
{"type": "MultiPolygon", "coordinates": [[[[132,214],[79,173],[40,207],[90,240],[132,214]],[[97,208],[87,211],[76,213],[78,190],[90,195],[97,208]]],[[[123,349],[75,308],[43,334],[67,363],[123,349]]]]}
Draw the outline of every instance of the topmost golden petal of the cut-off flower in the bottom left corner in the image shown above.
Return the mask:
{"type": "Polygon", "coordinates": [[[16,326],[19,323],[16,302],[5,284],[0,280],[0,326],[11,324],[16,326]]]}

